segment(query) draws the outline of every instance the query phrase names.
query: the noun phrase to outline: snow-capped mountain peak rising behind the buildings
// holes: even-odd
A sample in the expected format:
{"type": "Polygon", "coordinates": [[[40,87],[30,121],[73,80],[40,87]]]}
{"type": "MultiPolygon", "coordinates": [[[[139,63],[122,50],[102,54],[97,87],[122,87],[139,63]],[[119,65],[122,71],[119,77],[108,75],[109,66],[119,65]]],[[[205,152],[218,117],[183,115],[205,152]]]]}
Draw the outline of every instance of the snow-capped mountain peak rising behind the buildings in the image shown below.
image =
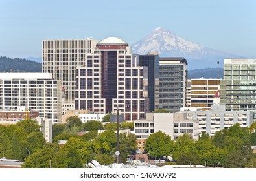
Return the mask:
{"type": "Polygon", "coordinates": [[[137,54],[159,52],[161,57],[184,57],[188,61],[189,69],[217,67],[217,61],[222,67],[225,58],[244,58],[192,43],[161,27],[137,41],[132,48],[137,54]]]}

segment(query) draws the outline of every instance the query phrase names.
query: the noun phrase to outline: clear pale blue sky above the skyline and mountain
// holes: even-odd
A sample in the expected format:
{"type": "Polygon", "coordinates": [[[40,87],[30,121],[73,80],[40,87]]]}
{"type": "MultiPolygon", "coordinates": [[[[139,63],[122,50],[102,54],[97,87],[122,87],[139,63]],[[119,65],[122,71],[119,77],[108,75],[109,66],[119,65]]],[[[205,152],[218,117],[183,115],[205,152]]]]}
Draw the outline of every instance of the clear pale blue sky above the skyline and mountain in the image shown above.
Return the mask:
{"type": "Polygon", "coordinates": [[[129,44],[155,28],[223,52],[256,58],[255,0],[1,0],[0,56],[41,56],[43,39],[129,44]]]}

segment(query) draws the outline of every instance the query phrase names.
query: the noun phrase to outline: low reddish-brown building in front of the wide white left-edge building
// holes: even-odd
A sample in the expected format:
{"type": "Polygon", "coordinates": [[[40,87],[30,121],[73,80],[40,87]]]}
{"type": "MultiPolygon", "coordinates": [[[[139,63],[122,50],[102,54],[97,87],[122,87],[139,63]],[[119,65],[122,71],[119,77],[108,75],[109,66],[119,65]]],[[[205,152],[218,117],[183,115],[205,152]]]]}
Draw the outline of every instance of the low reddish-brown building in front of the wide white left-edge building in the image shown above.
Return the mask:
{"type": "Polygon", "coordinates": [[[0,110],[0,124],[12,125],[19,120],[36,119],[39,116],[39,111],[27,110],[25,106],[18,106],[16,110],[1,109],[0,110]]]}

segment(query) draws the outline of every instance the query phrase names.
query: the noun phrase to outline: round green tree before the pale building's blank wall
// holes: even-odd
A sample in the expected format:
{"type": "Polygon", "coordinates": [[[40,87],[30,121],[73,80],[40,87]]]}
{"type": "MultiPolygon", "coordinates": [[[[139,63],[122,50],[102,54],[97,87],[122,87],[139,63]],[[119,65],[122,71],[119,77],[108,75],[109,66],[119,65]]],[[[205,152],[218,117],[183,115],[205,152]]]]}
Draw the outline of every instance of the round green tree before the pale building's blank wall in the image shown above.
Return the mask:
{"type": "Polygon", "coordinates": [[[146,153],[150,153],[150,156],[155,156],[156,158],[163,158],[163,156],[170,156],[174,143],[172,142],[170,136],[158,131],[156,133],[150,134],[145,143],[146,153]]]}

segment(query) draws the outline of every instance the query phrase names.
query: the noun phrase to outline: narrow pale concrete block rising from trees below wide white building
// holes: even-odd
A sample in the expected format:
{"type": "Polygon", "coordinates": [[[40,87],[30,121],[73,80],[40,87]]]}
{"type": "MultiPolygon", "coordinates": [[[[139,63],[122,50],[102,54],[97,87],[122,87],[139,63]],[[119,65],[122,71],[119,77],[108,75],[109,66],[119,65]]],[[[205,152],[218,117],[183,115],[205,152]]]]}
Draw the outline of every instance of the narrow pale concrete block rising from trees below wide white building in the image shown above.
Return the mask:
{"type": "Polygon", "coordinates": [[[43,138],[47,143],[52,143],[52,122],[50,120],[44,120],[44,118],[38,117],[38,125],[41,125],[40,131],[43,133],[43,138]]]}

